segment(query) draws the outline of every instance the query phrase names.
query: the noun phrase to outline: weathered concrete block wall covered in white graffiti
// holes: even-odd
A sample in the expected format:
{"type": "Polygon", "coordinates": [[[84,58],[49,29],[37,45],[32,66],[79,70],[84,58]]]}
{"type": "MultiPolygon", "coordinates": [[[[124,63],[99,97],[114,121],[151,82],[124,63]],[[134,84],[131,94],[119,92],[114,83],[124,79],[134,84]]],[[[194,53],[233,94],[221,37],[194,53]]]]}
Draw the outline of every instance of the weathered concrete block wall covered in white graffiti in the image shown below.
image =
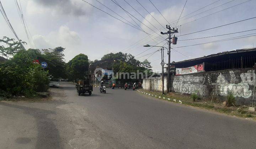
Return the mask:
{"type": "MultiPolygon", "coordinates": [[[[171,76],[170,90],[181,94],[197,93],[204,99],[211,99],[213,96],[221,101],[226,100],[231,92],[237,104],[249,105],[252,103],[254,81],[254,69],[251,68],[199,72],[171,76]]],[[[161,78],[143,79],[143,88],[147,90],[161,91],[160,86],[161,78]]]]}

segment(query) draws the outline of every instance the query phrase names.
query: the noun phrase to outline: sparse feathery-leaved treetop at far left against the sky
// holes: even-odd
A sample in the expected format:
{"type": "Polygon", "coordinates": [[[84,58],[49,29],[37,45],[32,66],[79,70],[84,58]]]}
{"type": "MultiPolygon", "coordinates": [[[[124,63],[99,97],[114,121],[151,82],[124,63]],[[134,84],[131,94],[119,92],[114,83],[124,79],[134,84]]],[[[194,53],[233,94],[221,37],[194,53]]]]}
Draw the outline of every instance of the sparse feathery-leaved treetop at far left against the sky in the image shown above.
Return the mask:
{"type": "MultiPolygon", "coordinates": [[[[20,40],[21,41],[21,40],[20,40]]],[[[0,54],[2,56],[5,56],[6,59],[8,59],[10,56],[14,56],[19,50],[24,49],[22,44],[27,44],[26,42],[18,42],[13,38],[9,38],[4,36],[2,39],[0,39],[0,43],[6,44],[6,47],[1,45],[0,46],[0,54]]]]}

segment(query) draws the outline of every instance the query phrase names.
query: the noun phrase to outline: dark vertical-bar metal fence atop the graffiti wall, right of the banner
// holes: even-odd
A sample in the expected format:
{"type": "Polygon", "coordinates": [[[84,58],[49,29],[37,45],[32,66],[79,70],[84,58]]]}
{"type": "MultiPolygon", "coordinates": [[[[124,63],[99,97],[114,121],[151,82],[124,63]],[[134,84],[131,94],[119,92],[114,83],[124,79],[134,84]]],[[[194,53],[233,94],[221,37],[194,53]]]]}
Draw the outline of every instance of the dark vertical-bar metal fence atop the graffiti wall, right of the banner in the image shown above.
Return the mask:
{"type": "Polygon", "coordinates": [[[256,62],[256,56],[239,57],[216,62],[204,62],[204,71],[217,71],[234,68],[252,68],[256,62]]]}

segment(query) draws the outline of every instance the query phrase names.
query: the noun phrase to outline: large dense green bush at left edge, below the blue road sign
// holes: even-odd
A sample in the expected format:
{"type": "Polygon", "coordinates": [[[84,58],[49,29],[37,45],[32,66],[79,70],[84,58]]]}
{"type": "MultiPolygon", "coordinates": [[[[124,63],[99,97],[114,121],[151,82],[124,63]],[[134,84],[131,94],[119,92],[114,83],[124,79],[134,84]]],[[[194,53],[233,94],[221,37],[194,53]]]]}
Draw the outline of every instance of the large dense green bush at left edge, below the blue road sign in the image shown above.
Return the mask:
{"type": "Polygon", "coordinates": [[[31,96],[46,91],[49,83],[48,72],[43,72],[26,50],[20,50],[12,59],[0,65],[0,96],[31,96]]]}

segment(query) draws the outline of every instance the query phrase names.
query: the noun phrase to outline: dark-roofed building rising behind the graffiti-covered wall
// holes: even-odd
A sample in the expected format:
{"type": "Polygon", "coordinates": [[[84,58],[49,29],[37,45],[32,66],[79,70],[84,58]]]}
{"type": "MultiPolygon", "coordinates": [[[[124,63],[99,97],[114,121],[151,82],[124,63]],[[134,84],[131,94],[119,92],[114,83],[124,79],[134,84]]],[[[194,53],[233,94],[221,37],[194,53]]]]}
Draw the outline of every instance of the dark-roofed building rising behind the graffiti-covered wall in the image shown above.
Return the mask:
{"type": "Polygon", "coordinates": [[[172,67],[172,72],[175,71],[175,68],[186,68],[198,64],[204,64],[204,71],[217,71],[233,68],[252,68],[255,62],[256,48],[247,48],[172,62],[170,66],[172,67]]]}

